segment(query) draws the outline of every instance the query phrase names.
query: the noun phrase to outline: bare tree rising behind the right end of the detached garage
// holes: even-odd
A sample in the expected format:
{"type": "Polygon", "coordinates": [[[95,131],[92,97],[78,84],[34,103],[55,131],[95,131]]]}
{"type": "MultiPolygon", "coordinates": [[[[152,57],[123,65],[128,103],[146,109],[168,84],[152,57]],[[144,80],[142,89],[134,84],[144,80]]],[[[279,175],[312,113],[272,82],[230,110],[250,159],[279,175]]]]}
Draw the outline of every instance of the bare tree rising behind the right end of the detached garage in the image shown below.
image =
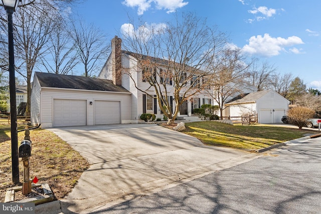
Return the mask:
{"type": "Polygon", "coordinates": [[[291,73],[285,73],[283,75],[280,73],[273,73],[271,75],[270,89],[286,98],[292,80],[293,75],[291,73]]]}

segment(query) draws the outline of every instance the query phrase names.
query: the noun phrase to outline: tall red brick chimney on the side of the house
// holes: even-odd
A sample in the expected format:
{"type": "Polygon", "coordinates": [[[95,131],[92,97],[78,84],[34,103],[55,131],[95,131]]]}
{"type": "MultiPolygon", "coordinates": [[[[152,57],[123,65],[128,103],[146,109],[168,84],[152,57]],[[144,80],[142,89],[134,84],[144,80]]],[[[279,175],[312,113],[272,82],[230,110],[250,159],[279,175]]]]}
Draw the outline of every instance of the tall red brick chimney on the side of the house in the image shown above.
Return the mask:
{"type": "Polygon", "coordinates": [[[121,85],[121,39],[115,36],[111,40],[112,83],[121,85]]]}

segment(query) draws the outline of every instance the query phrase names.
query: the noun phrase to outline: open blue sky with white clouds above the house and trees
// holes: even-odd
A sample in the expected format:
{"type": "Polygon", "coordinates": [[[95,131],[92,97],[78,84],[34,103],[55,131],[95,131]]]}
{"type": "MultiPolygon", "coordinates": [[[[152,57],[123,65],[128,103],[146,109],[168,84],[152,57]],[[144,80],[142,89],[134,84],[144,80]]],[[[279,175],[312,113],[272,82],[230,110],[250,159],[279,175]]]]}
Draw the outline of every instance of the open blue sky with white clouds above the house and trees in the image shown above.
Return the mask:
{"type": "MultiPolygon", "coordinates": [[[[148,24],[169,21],[174,12],[194,12],[229,35],[249,56],[292,73],[321,91],[321,1],[319,0],[87,0],[72,9],[111,39],[128,16],[148,24]]],[[[110,42],[110,41],[106,41],[110,42]]]]}

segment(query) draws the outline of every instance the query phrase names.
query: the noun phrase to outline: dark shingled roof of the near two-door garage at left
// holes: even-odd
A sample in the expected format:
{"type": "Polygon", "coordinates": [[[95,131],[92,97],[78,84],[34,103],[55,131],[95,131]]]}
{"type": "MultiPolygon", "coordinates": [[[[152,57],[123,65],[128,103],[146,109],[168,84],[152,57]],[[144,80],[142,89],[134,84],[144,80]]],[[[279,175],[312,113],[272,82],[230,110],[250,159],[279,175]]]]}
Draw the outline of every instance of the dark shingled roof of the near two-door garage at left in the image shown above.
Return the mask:
{"type": "Polygon", "coordinates": [[[123,87],[114,85],[111,80],[42,72],[35,72],[35,76],[41,87],[130,93],[123,87]]]}

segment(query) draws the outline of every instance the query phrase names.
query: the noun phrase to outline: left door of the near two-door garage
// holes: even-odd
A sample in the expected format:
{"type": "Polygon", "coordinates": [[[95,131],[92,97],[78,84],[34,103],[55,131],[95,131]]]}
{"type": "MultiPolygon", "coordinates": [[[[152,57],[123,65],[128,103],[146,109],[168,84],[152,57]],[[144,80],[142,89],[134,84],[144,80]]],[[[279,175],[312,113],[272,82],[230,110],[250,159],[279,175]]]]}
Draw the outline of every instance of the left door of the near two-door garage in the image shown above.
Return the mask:
{"type": "Polygon", "coordinates": [[[54,99],[54,127],[87,125],[86,100],[54,99]]]}

